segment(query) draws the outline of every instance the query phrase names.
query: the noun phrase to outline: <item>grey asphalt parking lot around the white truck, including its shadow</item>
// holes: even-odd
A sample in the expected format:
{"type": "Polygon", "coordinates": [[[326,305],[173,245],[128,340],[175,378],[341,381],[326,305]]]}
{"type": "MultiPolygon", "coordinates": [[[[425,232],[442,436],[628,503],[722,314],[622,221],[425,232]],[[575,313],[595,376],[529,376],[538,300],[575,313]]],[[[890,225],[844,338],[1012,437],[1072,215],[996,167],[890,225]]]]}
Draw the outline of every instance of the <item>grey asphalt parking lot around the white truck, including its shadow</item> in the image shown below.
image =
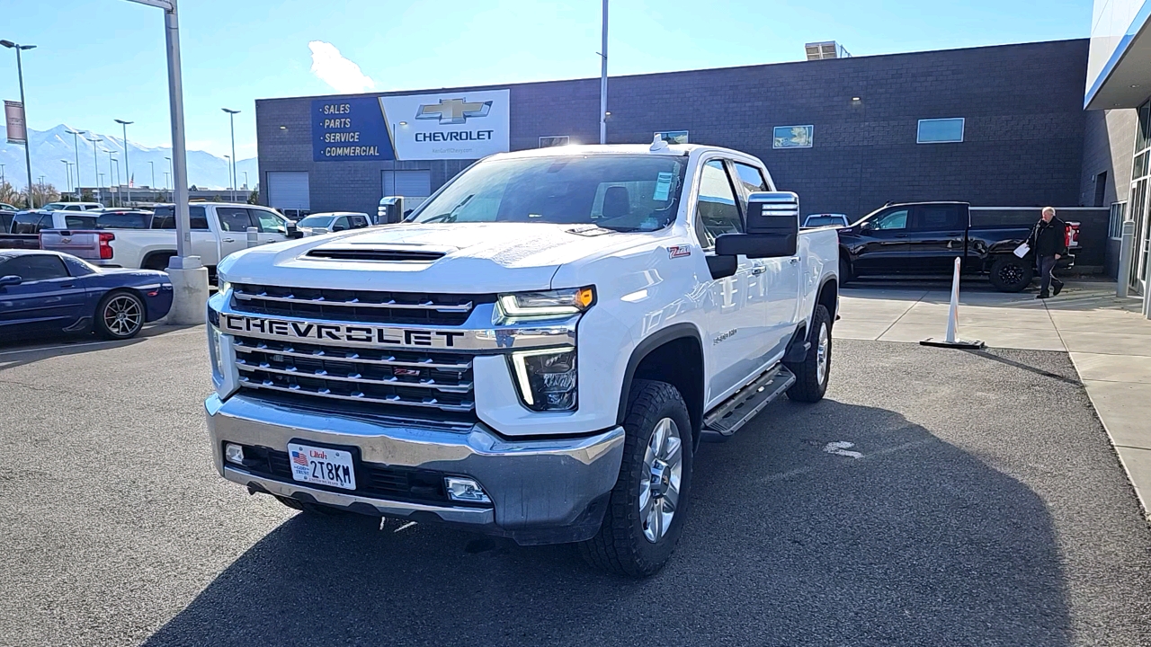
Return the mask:
{"type": "Polygon", "coordinates": [[[249,496],[204,347],[0,348],[0,645],[1151,645],[1151,531],[1066,353],[837,341],[824,402],[702,446],[631,581],[249,496]]]}

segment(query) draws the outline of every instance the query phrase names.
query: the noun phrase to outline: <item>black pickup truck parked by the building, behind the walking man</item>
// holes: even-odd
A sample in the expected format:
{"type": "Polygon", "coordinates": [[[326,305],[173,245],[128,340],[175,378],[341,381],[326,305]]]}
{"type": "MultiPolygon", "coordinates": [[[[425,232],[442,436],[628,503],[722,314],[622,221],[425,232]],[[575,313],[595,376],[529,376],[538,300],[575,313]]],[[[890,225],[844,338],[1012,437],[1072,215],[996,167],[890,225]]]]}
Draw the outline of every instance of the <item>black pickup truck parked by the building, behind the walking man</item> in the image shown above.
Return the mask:
{"type": "MultiPolygon", "coordinates": [[[[955,259],[963,274],[985,274],[1003,292],[1019,292],[1036,276],[1035,254],[1019,258],[1015,248],[1039,221],[1041,207],[973,207],[967,203],[887,205],[849,227],[839,228],[839,276],[843,283],[868,275],[947,275],[955,259]]],[[[1067,213],[1083,210],[1059,210],[1067,213]]],[[[1080,223],[1067,223],[1072,253],[1059,261],[1075,264],[1080,223]]]]}

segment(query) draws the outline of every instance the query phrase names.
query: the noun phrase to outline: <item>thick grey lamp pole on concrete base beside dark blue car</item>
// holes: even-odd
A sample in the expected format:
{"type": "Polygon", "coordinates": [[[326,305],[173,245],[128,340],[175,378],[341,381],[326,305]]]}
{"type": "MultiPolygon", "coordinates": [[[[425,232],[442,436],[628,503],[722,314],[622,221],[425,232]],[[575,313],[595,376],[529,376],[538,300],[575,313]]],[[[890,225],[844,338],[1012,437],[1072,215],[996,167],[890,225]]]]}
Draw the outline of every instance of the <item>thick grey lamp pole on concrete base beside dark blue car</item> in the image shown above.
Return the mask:
{"type": "Polygon", "coordinates": [[[168,53],[168,109],[171,113],[171,182],[175,188],[176,256],[168,260],[168,280],[174,287],[168,322],[204,322],[208,299],[208,272],[191,256],[188,208],[188,151],[184,146],[184,86],[180,78],[180,17],[177,0],[129,0],[163,9],[165,44],[168,53]]]}

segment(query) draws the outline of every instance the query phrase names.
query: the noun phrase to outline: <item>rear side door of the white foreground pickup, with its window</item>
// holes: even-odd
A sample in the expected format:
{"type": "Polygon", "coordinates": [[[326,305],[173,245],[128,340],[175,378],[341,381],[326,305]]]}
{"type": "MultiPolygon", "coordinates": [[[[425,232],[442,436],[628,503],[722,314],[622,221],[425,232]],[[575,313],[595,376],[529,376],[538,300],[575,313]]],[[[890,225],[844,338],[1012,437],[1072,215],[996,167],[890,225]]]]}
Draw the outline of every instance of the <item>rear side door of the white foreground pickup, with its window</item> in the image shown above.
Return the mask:
{"type": "MultiPolygon", "coordinates": [[[[763,173],[741,162],[732,162],[732,177],[739,189],[740,207],[747,213],[747,195],[756,191],[770,191],[770,184],[763,173]]],[[[757,299],[763,300],[763,345],[771,359],[782,353],[791,341],[799,322],[799,273],[800,252],[791,258],[764,258],[752,261],[752,291],[757,299]]]]}

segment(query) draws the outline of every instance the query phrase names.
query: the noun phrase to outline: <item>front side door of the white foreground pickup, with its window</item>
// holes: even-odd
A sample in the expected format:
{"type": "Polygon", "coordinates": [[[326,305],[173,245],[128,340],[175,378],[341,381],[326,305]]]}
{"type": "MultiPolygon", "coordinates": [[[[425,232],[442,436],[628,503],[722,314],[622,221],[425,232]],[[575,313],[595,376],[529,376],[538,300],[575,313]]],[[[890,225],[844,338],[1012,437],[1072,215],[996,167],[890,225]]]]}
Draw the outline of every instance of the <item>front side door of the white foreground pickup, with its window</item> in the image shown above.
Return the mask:
{"type": "MultiPolygon", "coordinates": [[[[744,231],[744,219],[734,184],[723,160],[711,160],[700,172],[695,229],[704,253],[715,249],[721,234],[744,231]]],[[[706,315],[711,361],[708,398],[725,396],[742,385],[767,361],[767,267],[740,256],[733,276],[712,281],[706,315]]]]}

